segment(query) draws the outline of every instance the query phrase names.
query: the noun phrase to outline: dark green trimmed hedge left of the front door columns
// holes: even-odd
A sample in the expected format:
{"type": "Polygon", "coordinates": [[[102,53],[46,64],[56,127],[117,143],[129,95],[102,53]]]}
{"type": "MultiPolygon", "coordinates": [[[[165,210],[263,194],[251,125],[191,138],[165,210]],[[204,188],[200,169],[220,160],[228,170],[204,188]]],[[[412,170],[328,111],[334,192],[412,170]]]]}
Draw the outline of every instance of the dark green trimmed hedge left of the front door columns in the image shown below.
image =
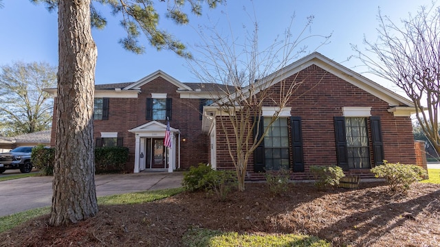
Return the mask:
{"type": "Polygon", "coordinates": [[[125,170],[129,160],[129,149],[125,147],[95,148],[96,174],[120,173],[125,170]]]}

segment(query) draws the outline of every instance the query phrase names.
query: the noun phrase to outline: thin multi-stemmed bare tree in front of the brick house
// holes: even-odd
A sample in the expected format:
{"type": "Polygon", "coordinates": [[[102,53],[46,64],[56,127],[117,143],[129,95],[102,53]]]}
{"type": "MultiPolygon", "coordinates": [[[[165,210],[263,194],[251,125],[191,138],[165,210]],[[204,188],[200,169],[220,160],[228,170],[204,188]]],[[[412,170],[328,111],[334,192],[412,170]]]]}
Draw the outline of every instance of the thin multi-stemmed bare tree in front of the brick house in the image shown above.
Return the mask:
{"type": "Polygon", "coordinates": [[[230,38],[225,38],[215,28],[208,29],[212,33],[210,36],[201,35],[202,43],[197,45],[199,58],[195,56],[195,62],[190,61],[189,64],[201,82],[217,84],[211,92],[212,97],[219,100],[206,109],[215,112],[213,117],[219,121],[223,132],[219,138],[224,138],[228,145],[239,180],[239,191],[245,190],[248,162],[254,150],[303,82],[296,77],[285,80],[284,68],[307,52],[307,45],[300,46],[305,40],[322,38],[322,45],[330,38],[307,33],[313,19],[314,16],[309,16],[298,36],[293,36],[292,18],[284,39],[274,40],[270,47],[263,50],[259,49],[256,21],[253,21],[252,34],[246,32],[243,43],[232,32],[230,38]],[[261,132],[256,126],[262,124],[263,106],[274,106],[275,110],[270,123],[266,123],[261,132]]]}

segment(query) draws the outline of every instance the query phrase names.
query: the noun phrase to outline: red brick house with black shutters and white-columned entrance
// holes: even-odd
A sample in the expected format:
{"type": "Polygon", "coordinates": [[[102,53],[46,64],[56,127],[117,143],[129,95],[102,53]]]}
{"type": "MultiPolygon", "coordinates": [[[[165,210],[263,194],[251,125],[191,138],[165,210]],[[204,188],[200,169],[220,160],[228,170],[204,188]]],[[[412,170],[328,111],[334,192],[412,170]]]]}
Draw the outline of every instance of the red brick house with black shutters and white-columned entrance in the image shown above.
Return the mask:
{"type": "MultiPolygon", "coordinates": [[[[261,172],[281,167],[289,167],[294,179],[307,179],[310,165],[340,165],[349,174],[371,176],[369,168],[382,159],[416,162],[410,119],[415,108],[408,99],[318,53],[290,64],[279,79],[293,78],[303,80],[296,91],[301,96],[292,97],[274,123],[281,136],[265,137],[256,150],[262,155],[250,160],[248,179],[260,179],[261,172]],[[282,145],[270,145],[280,138],[282,145]]],[[[179,82],[156,71],[137,82],[97,84],[95,88],[96,145],[128,147],[127,172],[173,172],[198,163],[232,168],[224,155],[225,143],[217,138],[223,134],[218,109],[208,106],[224,86],[179,82]],[[170,149],[164,148],[167,118],[170,149]]],[[[56,89],[47,92],[56,97],[56,89]]],[[[263,118],[276,107],[267,103],[263,118]]],[[[52,146],[55,119],[56,106],[52,146]]]]}

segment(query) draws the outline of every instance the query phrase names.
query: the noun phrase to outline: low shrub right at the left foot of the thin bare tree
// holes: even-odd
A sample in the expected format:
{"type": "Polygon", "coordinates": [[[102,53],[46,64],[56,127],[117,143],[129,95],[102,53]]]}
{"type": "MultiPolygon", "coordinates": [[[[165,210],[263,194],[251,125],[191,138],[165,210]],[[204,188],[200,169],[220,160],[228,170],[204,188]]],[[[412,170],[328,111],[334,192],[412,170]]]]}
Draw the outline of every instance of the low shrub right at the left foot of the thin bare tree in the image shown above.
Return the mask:
{"type": "Polygon", "coordinates": [[[234,171],[213,170],[203,175],[201,185],[206,185],[207,191],[214,192],[222,202],[226,200],[228,193],[236,186],[236,174],[234,171]]]}

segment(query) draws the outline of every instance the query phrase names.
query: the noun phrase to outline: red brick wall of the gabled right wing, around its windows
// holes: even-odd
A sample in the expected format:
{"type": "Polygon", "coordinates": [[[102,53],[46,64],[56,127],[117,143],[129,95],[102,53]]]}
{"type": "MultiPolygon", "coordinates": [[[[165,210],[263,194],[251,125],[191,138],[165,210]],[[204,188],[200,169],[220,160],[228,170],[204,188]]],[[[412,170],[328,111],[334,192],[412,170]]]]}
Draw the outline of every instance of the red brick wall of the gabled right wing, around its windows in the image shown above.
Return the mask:
{"type": "MultiPolygon", "coordinates": [[[[311,165],[336,165],[336,143],[333,117],[343,116],[342,106],[371,106],[371,115],[380,116],[384,157],[390,163],[415,163],[415,149],[412,138],[410,117],[394,117],[388,113],[388,103],[366,91],[346,82],[336,75],[327,73],[316,65],[304,69],[298,78],[291,76],[287,82],[302,82],[296,87],[287,106],[292,107],[291,115],[302,118],[303,153],[305,172],[292,175],[294,179],[309,179],[311,165]]],[[[279,92],[279,84],[270,89],[274,95],[279,92]]],[[[265,106],[274,105],[267,101],[265,106]]],[[[219,119],[218,119],[219,120],[219,119]]],[[[217,120],[217,167],[230,167],[226,155],[221,126],[217,120]]],[[[369,124],[370,125],[370,124],[369,124]]],[[[369,133],[370,128],[369,128],[369,133]]],[[[371,138],[370,138],[371,140],[371,138]]],[[[370,143],[370,147],[371,147],[370,143]]],[[[372,153],[372,152],[371,152],[372,153]]],[[[373,163],[373,156],[371,156],[373,163]]],[[[262,178],[253,173],[253,160],[248,163],[248,179],[262,178]]],[[[371,176],[369,169],[351,169],[349,174],[371,176]]]]}

